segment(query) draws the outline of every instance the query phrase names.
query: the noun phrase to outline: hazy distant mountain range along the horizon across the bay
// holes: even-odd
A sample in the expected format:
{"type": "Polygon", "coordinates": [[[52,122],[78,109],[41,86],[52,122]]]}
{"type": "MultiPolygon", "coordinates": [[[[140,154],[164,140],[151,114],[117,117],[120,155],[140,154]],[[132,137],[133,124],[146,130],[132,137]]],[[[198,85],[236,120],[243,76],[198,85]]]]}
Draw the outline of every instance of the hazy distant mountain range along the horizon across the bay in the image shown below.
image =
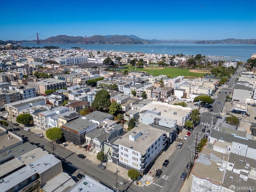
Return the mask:
{"type": "MultiPolygon", "coordinates": [[[[33,40],[36,41],[36,40],[33,40]]],[[[31,42],[31,41],[22,41],[31,42]]],[[[256,44],[256,39],[224,39],[224,40],[148,40],[135,35],[94,35],[91,37],[58,35],[41,43],[52,44],[154,44],[154,43],[196,43],[196,44],[256,44]]],[[[0,44],[15,43],[14,41],[0,41],[0,44]]]]}

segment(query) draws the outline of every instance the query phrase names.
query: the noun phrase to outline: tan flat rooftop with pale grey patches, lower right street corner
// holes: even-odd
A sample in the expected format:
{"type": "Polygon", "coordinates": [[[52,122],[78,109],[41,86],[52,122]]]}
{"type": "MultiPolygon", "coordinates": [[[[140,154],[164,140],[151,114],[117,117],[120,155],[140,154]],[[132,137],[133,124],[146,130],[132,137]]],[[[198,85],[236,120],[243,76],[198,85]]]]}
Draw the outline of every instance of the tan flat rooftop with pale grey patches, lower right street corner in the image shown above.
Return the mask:
{"type": "Polygon", "coordinates": [[[199,158],[195,160],[191,173],[201,178],[208,178],[214,183],[222,183],[224,174],[218,168],[222,167],[220,165],[222,160],[228,161],[228,154],[222,154],[204,147],[198,156],[199,158]]]}

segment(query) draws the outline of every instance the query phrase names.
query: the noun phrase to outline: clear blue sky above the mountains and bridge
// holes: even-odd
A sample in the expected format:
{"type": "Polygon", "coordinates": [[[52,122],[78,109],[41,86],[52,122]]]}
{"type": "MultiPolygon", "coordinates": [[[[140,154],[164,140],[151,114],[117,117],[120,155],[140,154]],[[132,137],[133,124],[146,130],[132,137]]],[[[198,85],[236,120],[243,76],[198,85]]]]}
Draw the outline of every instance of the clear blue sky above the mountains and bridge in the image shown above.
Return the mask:
{"type": "Polygon", "coordinates": [[[40,39],[115,34],[251,39],[256,38],[255,7],[256,0],[2,0],[0,40],[34,40],[36,33],[40,39]]]}

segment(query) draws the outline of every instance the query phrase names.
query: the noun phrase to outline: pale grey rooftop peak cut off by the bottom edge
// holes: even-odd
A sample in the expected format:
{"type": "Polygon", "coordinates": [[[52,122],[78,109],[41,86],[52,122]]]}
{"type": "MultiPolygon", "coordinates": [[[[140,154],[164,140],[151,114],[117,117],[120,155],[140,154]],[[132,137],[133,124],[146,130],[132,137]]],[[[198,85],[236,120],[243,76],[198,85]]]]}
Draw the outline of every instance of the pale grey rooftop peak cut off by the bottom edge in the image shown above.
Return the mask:
{"type": "Polygon", "coordinates": [[[85,175],[79,182],[76,183],[70,190],[67,192],[114,192],[110,188],[100,184],[96,180],[90,178],[89,176],[85,175]]]}

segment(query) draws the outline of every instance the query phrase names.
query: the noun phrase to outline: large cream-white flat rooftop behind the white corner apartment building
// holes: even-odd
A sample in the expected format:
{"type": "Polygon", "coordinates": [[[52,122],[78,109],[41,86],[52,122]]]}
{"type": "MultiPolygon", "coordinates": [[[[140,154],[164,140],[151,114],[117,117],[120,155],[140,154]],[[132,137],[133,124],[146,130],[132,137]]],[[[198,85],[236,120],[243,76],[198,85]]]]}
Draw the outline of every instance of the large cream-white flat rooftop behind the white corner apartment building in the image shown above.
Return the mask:
{"type": "Polygon", "coordinates": [[[188,113],[190,113],[192,111],[192,108],[170,105],[164,102],[153,101],[143,106],[142,108],[140,108],[140,110],[141,111],[142,110],[160,111],[162,117],[177,120],[177,125],[182,126],[183,117],[186,116],[188,113]],[[174,112],[176,113],[174,114],[174,112]]]}

